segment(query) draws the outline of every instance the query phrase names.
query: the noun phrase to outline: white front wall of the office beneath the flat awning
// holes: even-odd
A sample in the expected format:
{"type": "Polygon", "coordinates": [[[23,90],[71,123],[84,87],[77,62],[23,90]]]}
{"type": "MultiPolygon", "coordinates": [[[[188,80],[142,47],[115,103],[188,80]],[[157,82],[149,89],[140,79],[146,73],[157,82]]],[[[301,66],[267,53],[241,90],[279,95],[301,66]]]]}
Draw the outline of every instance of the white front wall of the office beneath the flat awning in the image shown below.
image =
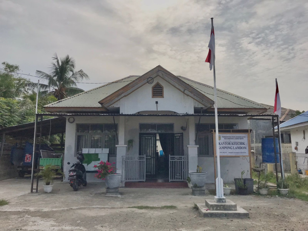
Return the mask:
{"type": "MultiPolygon", "coordinates": [[[[174,132],[181,133],[183,132],[183,141],[184,141],[184,155],[188,155],[188,145],[194,144],[194,134],[189,136],[189,128],[186,131],[181,130],[181,126],[186,126],[187,120],[191,117],[172,117],[172,116],[125,116],[121,120],[125,121],[125,129],[120,129],[124,132],[119,138],[121,139],[121,144],[128,145],[128,140],[134,140],[133,147],[128,150],[126,148],[126,155],[129,156],[138,156],[139,155],[139,123],[174,123],[174,132]],[[123,143],[124,142],[124,143],[123,143]]],[[[188,123],[188,127],[193,124],[193,122],[198,123],[199,117],[192,118],[192,122],[188,123]]],[[[220,117],[218,119],[219,123],[237,123],[239,129],[248,129],[248,123],[246,117],[220,117]]],[[[66,139],[65,139],[65,154],[64,154],[64,172],[66,180],[68,177],[68,170],[71,165],[68,165],[67,162],[74,163],[77,161],[74,156],[75,153],[75,131],[76,124],[78,123],[113,123],[113,118],[110,116],[102,117],[90,117],[90,116],[76,116],[75,122],[70,124],[66,123],[66,139]]],[[[120,117],[115,117],[115,123],[120,124],[120,117]]],[[[200,123],[215,123],[214,117],[201,117],[200,123]]],[[[193,129],[194,130],[194,129],[193,129]]],[[[120,132],[121,133],[121,132],[120,132]]],[[[118,135],[119,131],[118,131],[118,135]]],[[[305,150],[304,150],[305,151],[305,150]]],[[[249,160],[249,158],[247,157],[249,160]]],[[[110,162],[116,162],[116,158],[111,158],[110,162]]],[[[197,157],[198,164],[203,168],[203,171],[208,172],[207,182],[214,182],[214,164],[213,157],[197,157]]],[[[233,178],[240,177],[242,170],[249,170],[249,163],[246,159],[241,157],[221,157],[221,176],[225,183],[230,183],[233,181],[233,178]]],[[[121,168],[121,166],[117,166],[121,168]]],[[[196,166],[197,168],[197,166],[196,166]]],[[[246,177],[250,177],[250,173],[246,177]]],[[[87,181],[101,181],[94,178],[93,173],[87,173],[87,181]]]]}

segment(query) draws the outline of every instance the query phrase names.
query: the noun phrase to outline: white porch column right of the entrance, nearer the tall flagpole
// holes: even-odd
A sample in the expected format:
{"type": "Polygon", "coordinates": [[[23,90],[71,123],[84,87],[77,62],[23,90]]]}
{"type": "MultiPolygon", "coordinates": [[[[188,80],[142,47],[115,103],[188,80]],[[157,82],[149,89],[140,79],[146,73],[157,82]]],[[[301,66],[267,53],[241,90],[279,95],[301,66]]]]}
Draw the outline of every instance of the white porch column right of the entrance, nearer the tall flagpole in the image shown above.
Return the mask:
{"type": "Polygon", "coordinates": [[[195,133],[195,118],[190,116],[188,118],[189,123],[189,145],[188,148],[188,172],[196,172],[198,165],[198,147],[195,145],[196,133],[195,133]]]}

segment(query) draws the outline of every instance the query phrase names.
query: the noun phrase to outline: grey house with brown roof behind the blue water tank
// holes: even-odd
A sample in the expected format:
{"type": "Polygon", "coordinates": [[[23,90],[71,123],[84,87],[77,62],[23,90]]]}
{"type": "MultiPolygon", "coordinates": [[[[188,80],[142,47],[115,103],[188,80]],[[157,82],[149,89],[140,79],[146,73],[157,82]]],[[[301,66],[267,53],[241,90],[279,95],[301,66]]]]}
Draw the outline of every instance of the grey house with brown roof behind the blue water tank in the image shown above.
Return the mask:
{"type": "MultiPolygon", "coordinates": [[[[274,114],[274,106],[260,103],[263,107],[267,108],[267,111],[264,113],[274,114]]],[[[296,111],[288,108],[281,108],[281,117],[279,119],[280,124],[290,120],[296,115],[296,111]]],[[[248,127],[252,129],[253,133],[250,136],[251,147],[254,150],[255,165],[259,166],[262,162],[262,152],[261,152],[261,140],[266,137],[273,137],[273,125],[272,120],[268,116],[264,117],[253,117],[248,120],[248,127]]],[[[277,123],[275,122],[274,126],[277,123]]],[[[289,131],[281,131],[281,143],[282,143],[282,153],[292,152],[291,147],[291,136],[289,131]]]]}

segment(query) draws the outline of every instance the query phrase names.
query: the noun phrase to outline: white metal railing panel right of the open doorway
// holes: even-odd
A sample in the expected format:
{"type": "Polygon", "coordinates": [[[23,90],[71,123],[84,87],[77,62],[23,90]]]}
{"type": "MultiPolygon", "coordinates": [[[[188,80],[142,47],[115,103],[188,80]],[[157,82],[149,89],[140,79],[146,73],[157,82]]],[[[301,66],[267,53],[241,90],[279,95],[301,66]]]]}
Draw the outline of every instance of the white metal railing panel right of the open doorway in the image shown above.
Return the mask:
{"type": "Polygon", "coordinates": [[[169,181],[183,181],[187,176],[187,156],[169,156],[169,181]]]}

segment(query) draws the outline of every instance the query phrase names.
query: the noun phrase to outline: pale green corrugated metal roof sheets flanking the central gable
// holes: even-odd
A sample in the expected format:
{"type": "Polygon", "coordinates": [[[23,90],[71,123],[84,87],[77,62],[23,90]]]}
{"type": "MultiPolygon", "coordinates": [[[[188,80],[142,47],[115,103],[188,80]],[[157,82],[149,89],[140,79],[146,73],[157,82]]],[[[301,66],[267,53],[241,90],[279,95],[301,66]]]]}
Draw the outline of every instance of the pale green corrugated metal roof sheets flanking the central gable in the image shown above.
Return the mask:
{"type": "MultiPolygon", "coordinates": [[[[96,87],[94,89],[84,91],[78,95],[59,100],[55,103],[46,105],[46,107],[101,107],[98,103],[101,99],[104,99],[108,95],[111,95],[113,92],[124,87],[128,83],[140,77],[139,75],[130,75],[124,79],[117,80],[112,83],[108,83],[101,87],[96,87]]],[[[182,76],[177,76],[185,83],[194,87],[196,90],[200,91],[205,96],[214,100],[214,88],[193,81],[191,79],[184,78],[182,76]]],[[[252,100],[245,99],[241,96],[234,95],[227,91],[222,91],[217,89],[217,105],[218,108],[264,108],[261,104],[256,103],[252,100]]]]}

